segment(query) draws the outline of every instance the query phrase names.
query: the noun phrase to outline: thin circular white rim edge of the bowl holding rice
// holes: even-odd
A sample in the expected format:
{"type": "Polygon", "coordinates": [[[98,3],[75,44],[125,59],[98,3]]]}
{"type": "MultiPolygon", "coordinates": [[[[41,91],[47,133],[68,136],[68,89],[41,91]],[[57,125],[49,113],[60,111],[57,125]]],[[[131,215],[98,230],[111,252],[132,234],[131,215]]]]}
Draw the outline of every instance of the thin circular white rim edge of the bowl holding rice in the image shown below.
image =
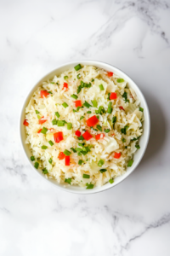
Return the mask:
{"type": "MultiPolygon", "coordinates": [[[[103,67],[103,68],[106,70],[105,67],[103,67]]],[[[48,183],[52,183],[55,188],[64,190],[64,191],[66,191],[66,192],[70,192],[70,193],[73,193],[73,194],[80,194],[80,195],[89,195],[89,194],[99,193],[99,192],[105,191],[105,190],[107,190],[107,189],[111,189],[111,188],[115,187],[116,185],[118,185],[119,183],[122,183],[122,181],[124,181],[127,177],[129,177],[130,174],[139,166],[139,163],[140,163],[140,161],[142,160],[142,158],[143,158],[143,156],[144,156],[144,153],[145,153],[145,150],[146,150],[146,148],[147,148],[147,146],[148,146],[148,143],[149,143],[149,139],[150,139],[150,111],[149,111],[148,104],[147,104],[147,102],[146,102],[146,100],[145,100],[145,98],[144,98],[144,95],[143,95],[142,91],[139,89],[139,86],[134,82],[134,80],[131,79],[131,78],[127,75],[127,73],[123,72],[120,68],[115,67],[115,66],[113,66],[113,65],[111,65],[111,64],[109,64],[109,63],[107,63],[107,62],[104,62],[104,61],[77,60],[77,61],[69,61],[69,62],[66,62],[65,64],[58,65],[58,66],[55,67],[52,71],[46,73],[41,79],[39,79],[36,84],[34,84],[33,86],[31,86],[31,89],[26,93],[26,97],[24,98],[24,101],[22,102],[22,105],[21,105],[21,106],[22,106],[22,107],[21,107],[21,110],[20,110],[20,117],[19,117],[20,144],[21,144],[21,148],[23,149],[23,151],[24,151],[24,153],[25,153],[25,155],[26,155],[26,159],[28,160],[28,162],[29,162],[31,168],[34,169],[34,171],[37,172],[37,174],[39,174],[41,177],[43,177],[43,179],[45,179],[48,183]],[[107,70],[113,68],[113,69],[115,69],[117,72],[123,73],[125,76],[127,76],[127,79],[129,79],[130,81],[132,81],[133,84],[134,84],[134,86],[137,87],[137,89],[139,90],[140,95],[141,95],[142,98],[143,98],[143,102],[144,102],[145,107],[146,107],[146,108],[144,108],[144,113],[146,113],[148,119],[147,119],[147,131],[144,131],[144,132],[146,133],[146,135],[145,135],[145,136],[146,136],[146,139],[145,139],[145,144],[144,144],[143,152],[142,152],[142,154],[139,155],[139,160],[138,160],[136,166],[132,166],[131,171],[128,172],[128,173],[125,172],[125,174],[123,174],[123,175],[121,176],[122,179],[121,179],[120,181],[118,181],[118,182],[116,182],[116,183],[112,183],[112,184],[110,185],[110,187],[107,187],[107,188],[105,188],[105,185],[103,185],[103,186],[101,186],[101,187],[96,187],[95,189],[83,189],[83,190],[81,190],[82,188],[77,187],[77,188],[80,189],[80,190],[78,190],[78,189],[73,190],[73,189],[71,189],[71,188],[73,188],[74,186],[69,186],[69,187],[67,187],[67,186],[59,185],[58,183],[53,183],[52,180],[47,179],[45,176],[42,176],[42,174],[41,174],[40,172],[38,172],[37,169],[34,168],[34,166],[31,164],[31,160],[29,159],[28,155],[26,154],[26,149],[25,149],[25,147],[24,147],[24,142],[23,142],[23,139],[22,139],[22,136],[21,136],[21,125],[23,125],[22,114],[23,114],[23,112],[25,111],[25,108],[26,108],[26,107],[25,107],[25,104],[26,104],[26,102],[28,101],[28,99],[30,98],[31,91],[34,90],[34,89],[36,88],[37,84],[39,84],[42,80],[46,79],[46,77],[48,77],[48,75],[50,75],[51,73],[54,73],[54,72],[57,73],[57,70],[58,70],[59,68],[67,67],[67,66],[69,66],[69,65],[77,65],[78,63],[82,63],[82,65],[93,65],[93,66],[98,65],[98,64],[99,64],[99,65],[104,65],[104,66],[107,66],[107,67],[108,67],[107,70]],[[97,190],[96,190],[96,189],[97,189],[97,190]]],[[[144,119],[144,121],[145,121],[145,119],[144,119]]]]}

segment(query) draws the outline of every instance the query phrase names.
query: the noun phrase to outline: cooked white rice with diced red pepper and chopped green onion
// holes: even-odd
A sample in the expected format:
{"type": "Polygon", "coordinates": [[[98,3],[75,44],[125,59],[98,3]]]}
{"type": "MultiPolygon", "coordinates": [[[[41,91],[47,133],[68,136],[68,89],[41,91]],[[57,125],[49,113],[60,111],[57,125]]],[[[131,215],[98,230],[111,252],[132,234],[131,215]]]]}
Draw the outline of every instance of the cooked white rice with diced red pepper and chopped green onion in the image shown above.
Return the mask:
{"type": "Polygon", "coordinates": [[[140,148],[139,104],[127,81],[99,67],[78,64],[43,82],[23,123],[33,165],[64,185],[113,183],[140,148]]]}

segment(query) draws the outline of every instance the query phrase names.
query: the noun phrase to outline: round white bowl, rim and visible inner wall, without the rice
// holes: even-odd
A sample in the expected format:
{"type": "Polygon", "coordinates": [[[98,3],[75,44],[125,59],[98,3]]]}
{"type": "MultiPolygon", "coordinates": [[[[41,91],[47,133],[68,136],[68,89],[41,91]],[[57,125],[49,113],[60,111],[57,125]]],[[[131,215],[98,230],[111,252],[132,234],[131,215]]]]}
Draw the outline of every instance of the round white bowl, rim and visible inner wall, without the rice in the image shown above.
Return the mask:
{"type": "Polygon", "coordinates": [[[126,73],[123,73],[120,69],[118,69],[116,67],[113,67],[110,64],[100,62],[100,61],[72,61],[72,62],[66,63],[62,66],[59,66],[59,67],[55,68],[52,72],[48,73],[42,79],[40,79],[37,82],[37,84],[32,86],[30,92],[26,96],[26,100],[24,101],[24,104],[22,106],[21,113],[20,113],[20,140],[21,140],[22,148],[24,149],[24,152],[26,154],[26,158],[27,158],[27,160],[29,161],[29,163],[31,165],[31,168],[35,172],[39,173],[43,178],[48,180],[48,182],[53,183],[59,189],[63,189],[65,191],[72,192],[72,193],[77,193],[77,194],[93,194],[93,193],[97,193],[97,192],[100,192],[100,191],[104,191],[106,189],[111,189],[112,187],[116,186],[118,183],[121,183],[139,165],[139,162],[142,159],[142,157],[144,155],[144,151],[147,147],[149,137],[150,137],[150,113],[149,113],[147,103],[144,99],[144,96],[143,96],[142,92],[139,90],[139,87],[133,82],[132,79],[130,79],[127,76],[126,73]],[[116,73],[122,79],[125,79],[128,82],[129,86],[132,87],[133,90],[135,90],[135,92],[138,95],[138,97],[140,99],[140,102],[141,102],[140,106],[142,108],[144,108],[144,134],[142,135],[142,137],[139,140],[140,149],[134,154],[133,166],[128,167],[127,172],[124,175],[122,175],[121,177],[116,177],[114,183],[112,183],[112,184],[111,183],[106,183],[104,186],[96,187],[94,189],[85,189],[85,188],[82,189],[82,188],[77,187],[77,186],[66,186],[66,187],[64,187],[62,184],[57,183],[57,181],[47,179],[44,176],[44,174],[42,174],[41,170],[37,170],[36,168],[34,168],[32,162],[30,160],[31,152],[30,152],[28,146],[25,143],[25,141],[26,141],[26,132],[25,132],[25,128],[24,128],[24,125],[23,125],[23,121],[25,119],[26,106],[27,106],[28,102],[30,101],[30,98],[31,98],[33,92],[35,90],[37,90],[37,87],[40,86],[43,81],[46,81],[48,79],[53,79],[54,75],[58,75],[59,73],[62,73],[62,72],[64,72],[65,70],[67,70],[69,68],[75,67],[78,63],[81,63],[82,65],[93,65],[95,67],[104,68],[106,71],[111,71],[113,73],[116,73]]]}

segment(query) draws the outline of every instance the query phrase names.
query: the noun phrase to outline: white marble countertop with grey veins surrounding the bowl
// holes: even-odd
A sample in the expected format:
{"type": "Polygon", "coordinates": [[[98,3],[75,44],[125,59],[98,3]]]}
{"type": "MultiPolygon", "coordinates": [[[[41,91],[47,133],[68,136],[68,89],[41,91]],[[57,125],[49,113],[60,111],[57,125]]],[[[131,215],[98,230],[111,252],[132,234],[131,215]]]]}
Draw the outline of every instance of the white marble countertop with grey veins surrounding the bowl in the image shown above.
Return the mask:
{"type": "Polygon", "coordinates": [[[0,255],[170,255],[170,1],[0,2],[0,255]],[[95,195],[60,191],[31,170],[19,113],[31,86],[77,59],[121,68],[150,108],[139,167],[95,195]]]}

